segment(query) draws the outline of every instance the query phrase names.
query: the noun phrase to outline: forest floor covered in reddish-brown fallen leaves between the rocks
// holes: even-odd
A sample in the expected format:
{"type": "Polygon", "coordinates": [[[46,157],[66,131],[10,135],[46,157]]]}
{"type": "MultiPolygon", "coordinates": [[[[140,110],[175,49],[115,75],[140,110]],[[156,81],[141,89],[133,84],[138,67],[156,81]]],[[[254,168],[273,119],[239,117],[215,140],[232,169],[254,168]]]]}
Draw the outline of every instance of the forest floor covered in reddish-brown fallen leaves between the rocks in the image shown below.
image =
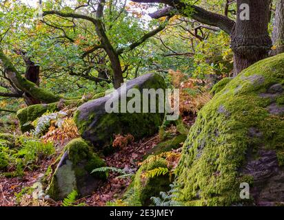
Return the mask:
{"type": "MultiPolygon", "coordinates": [[[[195,117],[186,116],[183,122],[187,127],[194,124],[195,117]]],[[[143,157],[147,155],[151,149],[159,144],[159,135],[143,138],[138,142],[122,148],[120,151],[106,156],[106,166],[121,168],[128,170],[129,173],[135,173],[139,168],[139,163],[142,162],[143,157]]],[[[32,171],[26,171],[22,177],[0,177],[0,206],[28,206],[33,205],[32,195],[27,195],[26,199],[21,199],[21,203],[17,201],[17,193],[20,193],[24,188],[33,186],[43,176],[48,166],[54,162],[54,158],[44,160],[39,164],[39,168],[32,171]],[[24,203],[24,204],[23,204],[24,203]]],[[[94,191],[92,195],[79,199],[77,202],[85,203],[86,206],[105,206],[107,201],[119,199],[128,188],[130,178],[117,178],[119,174],[110,172],[108,180],[98,190],[94,191]]],[[[41,206],[61,206],[61,201],[56,202],[48,199],[47,202],[39,204],[41,206]]]]}

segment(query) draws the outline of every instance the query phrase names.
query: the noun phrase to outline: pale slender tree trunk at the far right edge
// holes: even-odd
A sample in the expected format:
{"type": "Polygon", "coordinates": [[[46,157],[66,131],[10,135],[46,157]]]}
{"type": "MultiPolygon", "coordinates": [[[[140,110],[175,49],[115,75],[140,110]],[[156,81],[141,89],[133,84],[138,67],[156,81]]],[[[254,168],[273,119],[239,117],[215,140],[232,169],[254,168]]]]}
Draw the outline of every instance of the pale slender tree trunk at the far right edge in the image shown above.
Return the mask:
{"type": "Polygon", "coordinates": [[[277,0],[274,19],[274,30],[272,34],[274,50],[271,55],[284,53],[284,0],[277,0]]]}

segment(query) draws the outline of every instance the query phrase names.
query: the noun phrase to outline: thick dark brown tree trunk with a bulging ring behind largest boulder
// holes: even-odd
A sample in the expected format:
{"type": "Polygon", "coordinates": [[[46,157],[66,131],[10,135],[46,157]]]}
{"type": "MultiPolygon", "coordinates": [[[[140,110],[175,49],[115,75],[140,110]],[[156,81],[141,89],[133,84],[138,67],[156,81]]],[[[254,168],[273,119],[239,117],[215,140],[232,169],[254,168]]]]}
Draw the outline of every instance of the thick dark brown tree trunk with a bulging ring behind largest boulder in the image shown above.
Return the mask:
{"type": "Polygon", "coordinates": [[[236,24],[232,30],[234,76],[257,61],[267,58],[272,41],[268,34],[271,0],[238,0],[236,24]],[[241,4],[249,5],[250,18],[241,18],[241,4]]]}

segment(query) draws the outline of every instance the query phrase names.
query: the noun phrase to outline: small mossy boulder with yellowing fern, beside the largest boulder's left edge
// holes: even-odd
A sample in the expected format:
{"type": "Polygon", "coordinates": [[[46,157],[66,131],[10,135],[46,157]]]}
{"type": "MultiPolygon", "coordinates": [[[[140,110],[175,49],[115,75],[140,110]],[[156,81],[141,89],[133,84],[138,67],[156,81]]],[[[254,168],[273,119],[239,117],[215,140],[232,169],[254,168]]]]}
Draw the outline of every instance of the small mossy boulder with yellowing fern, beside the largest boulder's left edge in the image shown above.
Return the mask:
{"type": "MultiPolygon", "coordinates": [[[[166,175],[158,175],[155,177],[144,177],[143,173],[155,168],[167,168],[167,161],[160,157],[149,156],[148,163],[143,164],[139,170],[137,170],[135,177],[130,185],[132,195],[126,198],[130,201],[129,206],[141,205],[149,206],[151,204],[151,197],[159,197],[161,191],[167,191],[170,189],[170,177],[166,175]],[[150,159],[150,158],[154,159],[150,159]]],[[[128,192],[125,193],[128,195],[128,192]]]]}

